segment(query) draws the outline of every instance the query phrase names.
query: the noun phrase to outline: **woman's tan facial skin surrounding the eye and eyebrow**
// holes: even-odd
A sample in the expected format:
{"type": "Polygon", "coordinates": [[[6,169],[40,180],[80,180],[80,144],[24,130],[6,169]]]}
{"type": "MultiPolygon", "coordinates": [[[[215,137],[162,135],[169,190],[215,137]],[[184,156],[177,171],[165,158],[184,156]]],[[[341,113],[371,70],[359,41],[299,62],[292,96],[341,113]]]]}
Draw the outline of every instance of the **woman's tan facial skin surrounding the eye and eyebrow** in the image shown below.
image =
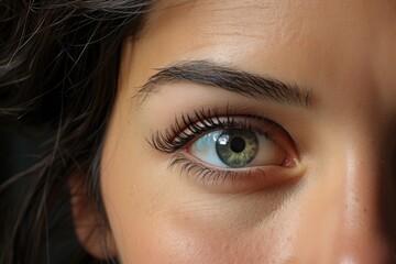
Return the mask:
{"type": "Polygon", "coordinates": [[[396,2],[158,1],[155,10],[124,44],[101,161],[112,254],[127,264],[396,261],[396,2]],[[158,69],[188,62],[294,85],[310,106],[188,78],[141,91],[158,69]],[[175,119],[201,110],[268,132],[292,165],[208,164],[190,151],[205,133],[173,153],[153,147],[175,119]],[[202,174],[198,164],[237,173],[202,174]]]}

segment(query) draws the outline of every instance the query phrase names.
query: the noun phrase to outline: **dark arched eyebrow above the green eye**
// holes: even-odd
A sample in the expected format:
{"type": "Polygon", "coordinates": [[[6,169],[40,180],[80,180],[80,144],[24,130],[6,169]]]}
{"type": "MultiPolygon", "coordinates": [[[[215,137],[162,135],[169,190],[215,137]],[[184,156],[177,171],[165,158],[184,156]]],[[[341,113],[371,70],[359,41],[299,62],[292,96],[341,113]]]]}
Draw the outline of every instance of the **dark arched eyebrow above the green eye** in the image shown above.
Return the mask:
{"type": "Polygon", "coordinates": [[[212,86],[245,97],[270,100],[280,105],[311,108],[312,91],[297,84],[284,82],[275,78],[218,65],[208,61],[189,61],[158,68],[158,73],[141,87],[139,95],[143,101],[160,85],[188,81],[212,86]]]}

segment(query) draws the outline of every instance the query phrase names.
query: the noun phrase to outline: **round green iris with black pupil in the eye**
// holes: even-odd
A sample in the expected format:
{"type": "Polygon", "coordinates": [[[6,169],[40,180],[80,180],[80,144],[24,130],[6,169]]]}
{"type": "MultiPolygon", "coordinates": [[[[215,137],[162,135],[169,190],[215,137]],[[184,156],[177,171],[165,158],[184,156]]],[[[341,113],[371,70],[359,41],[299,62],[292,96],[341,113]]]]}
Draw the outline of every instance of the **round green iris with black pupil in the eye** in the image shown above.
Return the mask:
{"type": "Polygon", "coordinates": [[[219,158],[230,167],[245,166],[256,156],[257,150],[257,136],[250,130],[226,130],[216,141],[219,158]]]}

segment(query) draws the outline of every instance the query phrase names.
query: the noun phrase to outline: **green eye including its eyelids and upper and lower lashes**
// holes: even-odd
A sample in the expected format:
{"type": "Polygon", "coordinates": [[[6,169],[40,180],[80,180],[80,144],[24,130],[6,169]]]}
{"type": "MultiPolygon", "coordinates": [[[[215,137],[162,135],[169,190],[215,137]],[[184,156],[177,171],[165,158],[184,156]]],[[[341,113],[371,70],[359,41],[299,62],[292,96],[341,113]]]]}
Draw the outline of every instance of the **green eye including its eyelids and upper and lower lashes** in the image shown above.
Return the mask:
{"type": "Polygon", "coordinates": [[[304,166],[282,125],[260,116],[224,112],[182,114],[147,142],[173,154],[168,167],[219,193],[254,191],[300,178],[304,166]]]}

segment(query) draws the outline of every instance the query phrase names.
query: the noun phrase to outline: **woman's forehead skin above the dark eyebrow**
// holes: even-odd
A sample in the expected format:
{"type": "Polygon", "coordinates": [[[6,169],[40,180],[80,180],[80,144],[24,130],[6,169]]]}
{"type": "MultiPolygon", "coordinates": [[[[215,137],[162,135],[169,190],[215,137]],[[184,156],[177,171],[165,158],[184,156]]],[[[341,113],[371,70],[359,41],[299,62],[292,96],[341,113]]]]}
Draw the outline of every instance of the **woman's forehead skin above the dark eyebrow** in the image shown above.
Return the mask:
{"type": "Polygon", "coordinates": [[[395,87],[395,1],[164,2],[140,41],[148,67],[204,57],[327,91],[395,87]]]}

